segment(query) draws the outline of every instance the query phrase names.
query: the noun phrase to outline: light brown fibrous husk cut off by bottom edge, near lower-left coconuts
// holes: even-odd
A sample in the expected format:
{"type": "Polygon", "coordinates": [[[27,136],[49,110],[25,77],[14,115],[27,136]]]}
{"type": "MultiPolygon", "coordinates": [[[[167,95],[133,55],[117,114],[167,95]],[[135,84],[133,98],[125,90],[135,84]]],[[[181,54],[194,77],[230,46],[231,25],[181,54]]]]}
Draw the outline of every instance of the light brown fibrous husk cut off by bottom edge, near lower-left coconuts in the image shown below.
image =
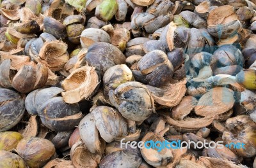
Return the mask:
{"type": "Polygon", "coordinates": [[[65,160],[61,158],[55,158],[54,160],[51,160],[46,165],[44,165],[44,168],[75,168],[72,164],[71,160],[65,160]]]}

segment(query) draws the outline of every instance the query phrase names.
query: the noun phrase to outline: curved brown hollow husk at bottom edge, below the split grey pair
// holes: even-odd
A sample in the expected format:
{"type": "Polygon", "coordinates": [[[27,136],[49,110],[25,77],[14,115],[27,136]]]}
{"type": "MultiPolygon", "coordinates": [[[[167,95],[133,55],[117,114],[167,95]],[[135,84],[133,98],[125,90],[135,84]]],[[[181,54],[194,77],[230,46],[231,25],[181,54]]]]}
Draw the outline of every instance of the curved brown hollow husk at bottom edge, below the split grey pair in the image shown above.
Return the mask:
{"type": "Polygon", "coordinates": [[[101,155],[90,153],[81,141],[74,144],[70,151],[70,157],[74,167],[97,168],[101,155]]]}

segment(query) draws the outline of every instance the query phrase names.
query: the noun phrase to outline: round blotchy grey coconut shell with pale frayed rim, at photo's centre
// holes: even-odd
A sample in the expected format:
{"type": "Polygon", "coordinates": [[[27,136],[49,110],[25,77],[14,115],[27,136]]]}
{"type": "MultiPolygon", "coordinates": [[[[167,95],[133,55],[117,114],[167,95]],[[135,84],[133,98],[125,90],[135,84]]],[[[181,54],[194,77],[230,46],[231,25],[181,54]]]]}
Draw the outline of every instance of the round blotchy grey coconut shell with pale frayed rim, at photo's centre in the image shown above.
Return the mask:
{"type": "Polygon", "coordinates": [[[109,90],[109,100],[122,116],[132,121],[145,120],[155,111],[148,88],[137,81],[123,83],[115,91],[109,90]]]}

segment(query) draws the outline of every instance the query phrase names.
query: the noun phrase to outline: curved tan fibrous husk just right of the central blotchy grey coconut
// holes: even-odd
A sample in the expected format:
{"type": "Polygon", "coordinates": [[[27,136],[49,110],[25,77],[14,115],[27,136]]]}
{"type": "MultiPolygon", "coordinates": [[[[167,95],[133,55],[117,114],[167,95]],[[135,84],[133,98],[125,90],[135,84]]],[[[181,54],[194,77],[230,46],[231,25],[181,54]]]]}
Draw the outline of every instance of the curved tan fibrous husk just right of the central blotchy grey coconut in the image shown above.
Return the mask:
{"type": "Polygon", "coordinates": [[[174,84],[165,85],[162,87],[164,95],[161,97],[152,92],[154,101],[167,107],[177,106],[186,93],[186,82],[186,80],[182,80],[174,84]]]}

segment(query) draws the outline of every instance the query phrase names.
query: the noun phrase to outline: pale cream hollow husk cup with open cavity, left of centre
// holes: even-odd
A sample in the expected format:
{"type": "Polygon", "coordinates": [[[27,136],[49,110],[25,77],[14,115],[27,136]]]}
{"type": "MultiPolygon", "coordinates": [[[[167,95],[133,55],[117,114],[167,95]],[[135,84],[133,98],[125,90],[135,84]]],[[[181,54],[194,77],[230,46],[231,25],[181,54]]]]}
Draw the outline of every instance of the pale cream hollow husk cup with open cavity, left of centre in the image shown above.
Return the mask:
{"type": "Polygon", "coordinates": [[[95,67],[83,66],[73,71],[61,84],[66,92],[61,95],[67,103],[76,103],[90,96],[97,91],[100,83],[100,76],[95,67]]]}

